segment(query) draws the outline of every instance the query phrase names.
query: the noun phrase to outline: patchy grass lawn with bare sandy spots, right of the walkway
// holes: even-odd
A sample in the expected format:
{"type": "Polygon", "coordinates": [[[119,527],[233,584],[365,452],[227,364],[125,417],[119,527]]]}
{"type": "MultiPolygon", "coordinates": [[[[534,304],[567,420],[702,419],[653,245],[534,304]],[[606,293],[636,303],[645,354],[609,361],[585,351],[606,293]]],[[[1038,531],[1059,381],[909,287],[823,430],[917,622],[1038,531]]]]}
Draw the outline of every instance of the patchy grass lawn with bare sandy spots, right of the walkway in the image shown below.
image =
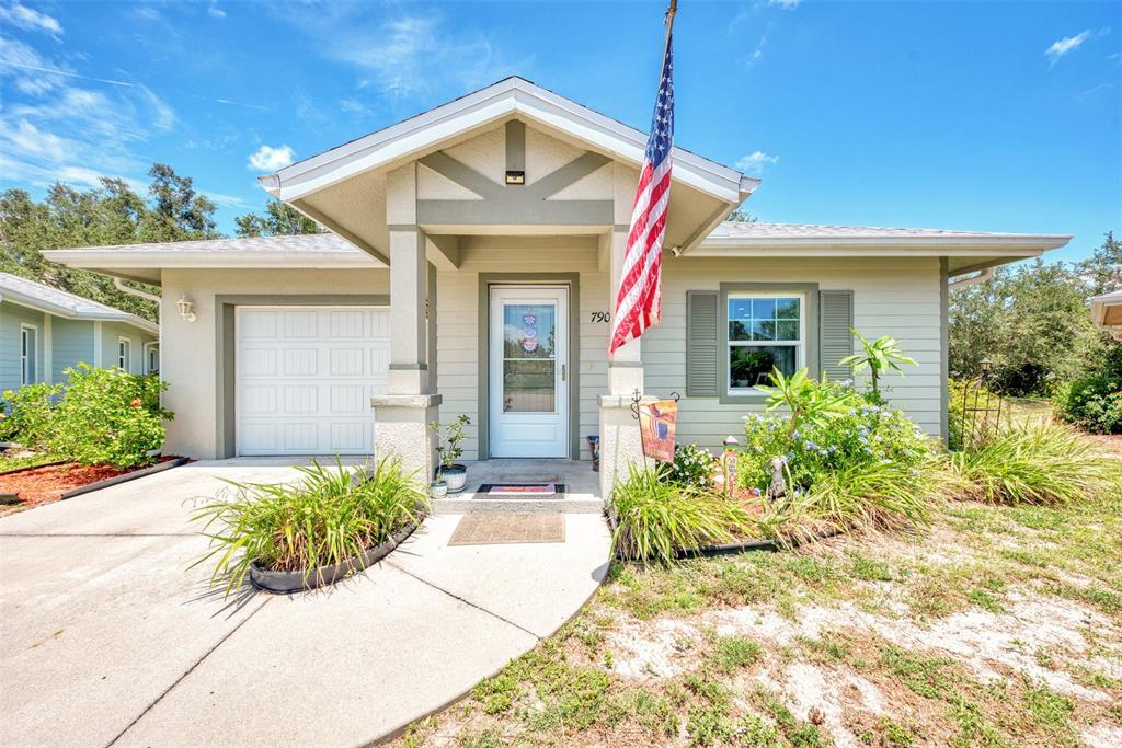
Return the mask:
{"type": "Polygon", "coordinates": [[[616,565],[399,746],[1120,746],[1122,497],[616,565]]]}

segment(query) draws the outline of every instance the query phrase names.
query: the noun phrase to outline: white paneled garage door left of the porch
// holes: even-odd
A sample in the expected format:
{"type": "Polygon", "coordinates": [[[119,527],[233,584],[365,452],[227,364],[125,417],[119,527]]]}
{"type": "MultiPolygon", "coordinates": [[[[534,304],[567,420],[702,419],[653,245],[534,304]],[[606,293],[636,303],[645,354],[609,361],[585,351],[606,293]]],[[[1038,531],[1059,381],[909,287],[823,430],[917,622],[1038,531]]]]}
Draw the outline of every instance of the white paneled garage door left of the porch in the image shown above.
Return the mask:
{"type": "Polygon", "coordinates": [[[238,454],[373,454],[389,310],[239,306],[238,454]]]}

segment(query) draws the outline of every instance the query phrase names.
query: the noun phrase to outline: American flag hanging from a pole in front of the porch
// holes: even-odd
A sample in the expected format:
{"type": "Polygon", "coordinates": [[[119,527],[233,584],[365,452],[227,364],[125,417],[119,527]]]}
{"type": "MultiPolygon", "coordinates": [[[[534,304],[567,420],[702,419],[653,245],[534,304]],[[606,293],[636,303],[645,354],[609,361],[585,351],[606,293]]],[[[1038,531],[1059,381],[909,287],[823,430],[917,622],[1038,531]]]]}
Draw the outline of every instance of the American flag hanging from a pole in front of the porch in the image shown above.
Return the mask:
{"type": "Polygon", "coordinates": [[[670,149],[674,142],[674,53],[673,37],[666,36],[662,80],[654,102],[651,138],[640,172],[635,206],[632,209],[627,248],[619,274],[616,314],[608,355],[662,318],[662,240],[666,234],[670,203],[670,149]]]}

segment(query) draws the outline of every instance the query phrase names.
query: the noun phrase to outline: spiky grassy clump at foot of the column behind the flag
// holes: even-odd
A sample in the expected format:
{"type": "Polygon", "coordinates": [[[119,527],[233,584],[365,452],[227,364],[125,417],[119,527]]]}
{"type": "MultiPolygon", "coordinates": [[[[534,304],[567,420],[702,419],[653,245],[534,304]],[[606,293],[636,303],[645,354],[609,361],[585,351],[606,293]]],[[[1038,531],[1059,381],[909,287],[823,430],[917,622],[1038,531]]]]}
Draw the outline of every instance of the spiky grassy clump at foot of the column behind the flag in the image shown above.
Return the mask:
{"type": "Polygon", "coordinates": [[[624,558],[669,563],[678,551],[757,536],[756,520],[737,501],[668,483],[656,470],[629,465],[611,506],[613,545],[624,558]]]}

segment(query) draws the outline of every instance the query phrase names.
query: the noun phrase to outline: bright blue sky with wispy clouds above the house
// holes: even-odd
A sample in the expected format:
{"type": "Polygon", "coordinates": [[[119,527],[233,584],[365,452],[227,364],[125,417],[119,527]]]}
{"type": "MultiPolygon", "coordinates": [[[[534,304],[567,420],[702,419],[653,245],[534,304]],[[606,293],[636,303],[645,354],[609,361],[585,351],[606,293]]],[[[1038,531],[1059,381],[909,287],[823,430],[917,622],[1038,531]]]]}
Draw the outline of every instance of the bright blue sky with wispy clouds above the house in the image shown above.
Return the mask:
{"type": "MultiPolygon", "coordinates": [[[[665,2],[0,0],[0,188],[256,174],[511,74],[645,129],[665,2]]],[[[695,2],[677,142],[765,221],[1122,232],[1122,3],[695,2]]]]}

